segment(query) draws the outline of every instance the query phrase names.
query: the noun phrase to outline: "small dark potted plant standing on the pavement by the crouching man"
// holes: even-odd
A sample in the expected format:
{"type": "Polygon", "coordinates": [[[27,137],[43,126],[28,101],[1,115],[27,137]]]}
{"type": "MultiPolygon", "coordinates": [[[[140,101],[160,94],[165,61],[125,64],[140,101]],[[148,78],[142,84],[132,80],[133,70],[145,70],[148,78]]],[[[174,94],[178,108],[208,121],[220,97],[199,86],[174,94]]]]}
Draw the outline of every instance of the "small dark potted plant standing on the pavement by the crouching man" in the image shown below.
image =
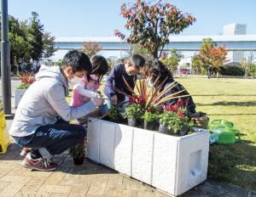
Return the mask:
{"type": "Polygon", "coordinates": [[[69,155],[73,156],[73,163],[75,165],[82,165],[85,157],[85,141],[71,147],[69,155]]]}

